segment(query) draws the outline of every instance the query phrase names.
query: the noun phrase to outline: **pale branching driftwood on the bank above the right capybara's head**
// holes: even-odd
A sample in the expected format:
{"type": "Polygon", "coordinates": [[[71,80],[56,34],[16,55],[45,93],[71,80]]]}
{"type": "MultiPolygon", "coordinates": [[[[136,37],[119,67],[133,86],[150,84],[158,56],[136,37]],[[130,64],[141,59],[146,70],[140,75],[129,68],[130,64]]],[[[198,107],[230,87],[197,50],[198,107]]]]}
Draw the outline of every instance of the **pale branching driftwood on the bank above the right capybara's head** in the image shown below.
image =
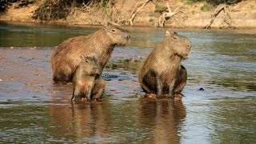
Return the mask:
{"type": "Polygon", "coordinates": [[[164,12],[162,13],[162,15],[158,18],[158,26],[163,27],[165,25],[165,22],[167,20],[167,18],[171,18],[174,17],[175,14],[178,14],[179,12],[182,12],[182,10],[180,10],[180,7],[176,8],[174,10],[174,12],[171,12],[170,10],[170,6],[168,3],[166,3],[167,9],[168,9],[168,13],[164,12]]]}

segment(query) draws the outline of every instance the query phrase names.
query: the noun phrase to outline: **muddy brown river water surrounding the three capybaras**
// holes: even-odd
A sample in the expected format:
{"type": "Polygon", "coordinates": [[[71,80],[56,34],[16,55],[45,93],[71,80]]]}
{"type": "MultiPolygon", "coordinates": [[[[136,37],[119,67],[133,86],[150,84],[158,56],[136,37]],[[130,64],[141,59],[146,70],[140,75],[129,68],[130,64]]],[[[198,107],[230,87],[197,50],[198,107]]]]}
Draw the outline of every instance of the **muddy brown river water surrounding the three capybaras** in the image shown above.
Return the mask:
{"type": "Polygon", "coordinates": [[[72,86],[51,81],[50,56],[64,39],[98,27],[0,23],[0,141],[256,141],[256,30],[175,29],[191,39],[193,51],[183,62],[186,97],[173,102],[142,98],[136,77],[166,29],[126,29],[132,40],[114,50],[104,70],[102,102],[72,104],[72,86]]]}

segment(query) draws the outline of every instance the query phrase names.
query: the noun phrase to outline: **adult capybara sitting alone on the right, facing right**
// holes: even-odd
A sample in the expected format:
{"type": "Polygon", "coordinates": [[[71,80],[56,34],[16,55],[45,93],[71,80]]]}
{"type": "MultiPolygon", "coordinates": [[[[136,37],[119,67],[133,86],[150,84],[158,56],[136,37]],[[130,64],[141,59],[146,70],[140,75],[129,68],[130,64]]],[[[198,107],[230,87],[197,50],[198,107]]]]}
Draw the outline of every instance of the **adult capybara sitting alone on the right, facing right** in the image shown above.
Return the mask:
{"type": "Polygon", "coordinates": [[[180,94],[186,85],[186,69],[182,60],[191,53],[190,40],[179,34],[166,32],[166,38],[151,51],[146,62],[138,71],[138,81],[146,94],[180,94]]]}

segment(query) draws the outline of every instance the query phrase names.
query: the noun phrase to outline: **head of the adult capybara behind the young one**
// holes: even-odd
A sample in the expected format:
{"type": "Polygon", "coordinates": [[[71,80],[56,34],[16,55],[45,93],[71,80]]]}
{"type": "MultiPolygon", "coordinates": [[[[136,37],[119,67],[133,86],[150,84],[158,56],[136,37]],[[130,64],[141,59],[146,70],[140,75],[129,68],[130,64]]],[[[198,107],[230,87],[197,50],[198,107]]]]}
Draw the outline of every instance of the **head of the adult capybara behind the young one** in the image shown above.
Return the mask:
{"type": "Polygon", "coordinates": [[[103,26],[103,30],[105,30],[107,37],[110,38],[115,45],[125,46],[130,41],[130,34],[127,30],[122,30],[110,23],[103,26]]]}

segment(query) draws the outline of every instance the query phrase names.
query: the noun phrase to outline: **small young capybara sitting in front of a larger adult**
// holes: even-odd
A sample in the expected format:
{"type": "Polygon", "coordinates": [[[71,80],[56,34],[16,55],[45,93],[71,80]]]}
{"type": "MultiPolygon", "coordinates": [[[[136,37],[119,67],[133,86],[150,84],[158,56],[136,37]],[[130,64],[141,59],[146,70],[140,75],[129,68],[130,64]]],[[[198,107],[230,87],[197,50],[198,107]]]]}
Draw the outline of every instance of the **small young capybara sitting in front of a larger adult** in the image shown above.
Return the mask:
{"type": "Polygon", "coordinates": [[[73,78],[72,100],[78,101],[85,97],[88,101],[102,98],[105,81],[98,74],[98,62],[95,58],[80,56],[81,62],[77,66],[73,78]]]}

